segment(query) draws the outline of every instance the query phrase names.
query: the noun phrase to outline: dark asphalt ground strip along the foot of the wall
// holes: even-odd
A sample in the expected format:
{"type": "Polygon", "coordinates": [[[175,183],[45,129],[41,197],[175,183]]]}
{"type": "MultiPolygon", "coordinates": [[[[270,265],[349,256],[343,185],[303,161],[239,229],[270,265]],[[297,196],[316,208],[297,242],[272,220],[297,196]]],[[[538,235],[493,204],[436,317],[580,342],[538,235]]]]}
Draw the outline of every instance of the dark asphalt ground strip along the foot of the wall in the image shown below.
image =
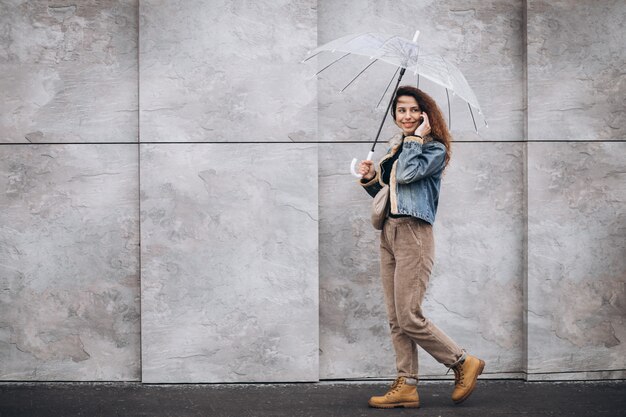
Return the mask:
{"type": "Polygon", "coordinates": [[[452,382],[420,382],[419,409],[367,406],[387,382],[316,384],[0,383],[0,416],[626,416],[626,381],[478,381],[463,404],[452,382]]]}

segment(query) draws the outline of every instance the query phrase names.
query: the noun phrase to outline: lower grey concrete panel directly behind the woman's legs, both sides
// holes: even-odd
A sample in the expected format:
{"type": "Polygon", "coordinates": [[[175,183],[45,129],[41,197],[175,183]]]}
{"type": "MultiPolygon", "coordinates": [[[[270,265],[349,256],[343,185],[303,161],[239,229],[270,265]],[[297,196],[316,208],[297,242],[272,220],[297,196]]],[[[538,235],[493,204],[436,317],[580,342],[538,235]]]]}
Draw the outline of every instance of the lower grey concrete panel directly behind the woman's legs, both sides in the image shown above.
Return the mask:
{"type": "MultiPolygon", "coordinates": [[[[456,144],[435,223],[424,311],[487,361],[486,376],[523,371],[523,146],[456,144]]],[[[321,378],[395,375],[371,198],[347,173],[363,147],[320,145],[321,378]]],[[[422,377],[445,373],[421,349],[419,358],[422,377]]]]}

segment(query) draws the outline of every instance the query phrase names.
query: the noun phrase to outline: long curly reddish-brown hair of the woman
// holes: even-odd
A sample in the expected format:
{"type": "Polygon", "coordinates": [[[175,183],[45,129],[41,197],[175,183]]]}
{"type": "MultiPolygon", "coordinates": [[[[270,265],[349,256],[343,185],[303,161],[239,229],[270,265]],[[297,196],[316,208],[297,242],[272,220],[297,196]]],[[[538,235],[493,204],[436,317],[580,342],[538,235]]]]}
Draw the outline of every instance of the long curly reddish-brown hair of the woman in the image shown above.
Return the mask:
{"type": "Polygon", "coordinates": [[[417,101],[420,110],[428,114],[428,120],[430,122],[430,134],[437,142],[441,142],[446,147],[446,166],[450,162],[452,156],[452,135],[448,130],[448,126],[443,118],[441,109],[433,100],[431,96],[410,85],[402,85],[398,87],[396,95],[393,98],[393,104],[391,106],[391,115],[394,120],[396,119],[396,106],[398,105],[398,98],[401,96],[413,97],[417,101]]]}

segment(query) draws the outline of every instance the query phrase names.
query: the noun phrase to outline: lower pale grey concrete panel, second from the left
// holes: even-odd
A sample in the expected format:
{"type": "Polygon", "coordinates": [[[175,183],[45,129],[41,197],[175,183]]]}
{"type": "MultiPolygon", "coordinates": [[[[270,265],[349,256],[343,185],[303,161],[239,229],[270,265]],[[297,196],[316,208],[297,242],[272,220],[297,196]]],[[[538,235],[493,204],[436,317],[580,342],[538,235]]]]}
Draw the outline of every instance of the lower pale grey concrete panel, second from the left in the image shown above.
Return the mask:
{"type": "Polygon", "coordinates": [[[143,381],[316,381],[317,145],[142,145],[141,189],[143,381]]]}

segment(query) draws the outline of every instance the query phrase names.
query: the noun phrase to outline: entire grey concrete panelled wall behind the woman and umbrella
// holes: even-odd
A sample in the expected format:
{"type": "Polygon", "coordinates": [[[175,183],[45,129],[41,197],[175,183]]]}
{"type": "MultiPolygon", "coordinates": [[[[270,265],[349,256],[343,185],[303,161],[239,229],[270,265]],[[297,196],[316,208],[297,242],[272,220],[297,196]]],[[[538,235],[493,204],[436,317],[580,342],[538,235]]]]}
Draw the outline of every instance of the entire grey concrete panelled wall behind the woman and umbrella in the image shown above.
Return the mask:
{"type": "Polygon", "coordinates": [[[299,61],[416,29],[489,122],[452,101],[430,318],[486,377],[624,378],[625,20],[620,1],[1,2],[0,379],[393,376],[347,172],[393,70],[338,94],[367,59],[317,80],[331,57],[299,61]]]}

